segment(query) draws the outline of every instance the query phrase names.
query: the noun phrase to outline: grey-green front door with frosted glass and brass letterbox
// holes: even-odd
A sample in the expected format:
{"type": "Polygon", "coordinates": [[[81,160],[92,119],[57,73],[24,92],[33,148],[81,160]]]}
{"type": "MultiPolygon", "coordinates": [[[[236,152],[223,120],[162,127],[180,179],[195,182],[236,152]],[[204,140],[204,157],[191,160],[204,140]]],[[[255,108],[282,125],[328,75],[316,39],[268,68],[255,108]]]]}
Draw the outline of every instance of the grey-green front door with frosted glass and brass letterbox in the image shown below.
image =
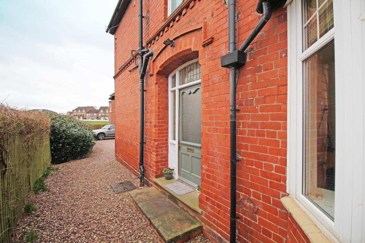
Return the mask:
{"type": "Polygon", "coordinates": [[[179,179],[196,187],[201,171],[201,86],[180,89],[179,179]]]}

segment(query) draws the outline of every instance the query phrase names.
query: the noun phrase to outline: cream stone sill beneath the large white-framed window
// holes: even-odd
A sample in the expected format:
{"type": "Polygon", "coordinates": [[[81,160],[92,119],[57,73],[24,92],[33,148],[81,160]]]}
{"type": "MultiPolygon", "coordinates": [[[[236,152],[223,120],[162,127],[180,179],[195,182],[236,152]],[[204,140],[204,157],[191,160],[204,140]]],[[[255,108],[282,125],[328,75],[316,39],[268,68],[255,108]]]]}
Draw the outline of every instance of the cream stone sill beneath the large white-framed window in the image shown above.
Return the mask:
{"type": "Polygon", "coordinates": [[[311,243],[331,242],[291,197],[283,197],[280,200],[284,208],[287,209],[300,228],[303,229],[304,234],[306,234],[311,243]]]}

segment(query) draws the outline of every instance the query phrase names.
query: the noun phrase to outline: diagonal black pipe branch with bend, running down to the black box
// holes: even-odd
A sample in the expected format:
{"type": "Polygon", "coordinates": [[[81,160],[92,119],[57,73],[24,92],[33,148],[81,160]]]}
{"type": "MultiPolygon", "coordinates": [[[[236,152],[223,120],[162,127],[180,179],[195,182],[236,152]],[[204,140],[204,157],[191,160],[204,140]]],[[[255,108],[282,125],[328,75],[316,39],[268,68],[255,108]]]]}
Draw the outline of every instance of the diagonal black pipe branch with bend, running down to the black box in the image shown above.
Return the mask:
{"type": "Polygon", "coordinates": [[[260,0],[260,1],[258,1],[256,11],[258,13],[262,13],[262,11],[263,11],[264,16],[262,16],[262,18],[260,19],[258,24],[255,26],[255,28],[253,29],[251,34],[247,37],[245,42],[243,42],[241,47],[239,47],[238,50],[240,50],[240,51],[245,51],[247,49],[247,47],[251,44],[251,42],[255,39],[255,37],[258,35],[258,33],[260,33],[262,28],[264,28],[265,24],[271,18],[271,14],[272,14],[271,4],[268,1],[260,0]]]}

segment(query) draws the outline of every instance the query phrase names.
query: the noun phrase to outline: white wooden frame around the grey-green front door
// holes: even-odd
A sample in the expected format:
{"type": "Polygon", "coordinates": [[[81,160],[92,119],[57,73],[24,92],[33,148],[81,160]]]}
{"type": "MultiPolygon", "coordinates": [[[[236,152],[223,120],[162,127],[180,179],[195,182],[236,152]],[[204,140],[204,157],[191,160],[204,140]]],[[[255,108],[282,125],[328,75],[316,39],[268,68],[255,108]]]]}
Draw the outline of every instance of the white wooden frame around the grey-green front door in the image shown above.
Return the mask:
{"type": "Polygon", "coordinates": [[[201,83],[201,79],[196,81],[189,82],[187,84],[179,85],[180,84],[180,75],[179,72],[186,66],[191,65],[192,63],[198,62],[199,59],[194,59],[192,61],[186,62],[184,65],[181,65],[177,69],[174,70],[169,75],[169,167],[174,169],[173,177],[178,179],[179,171],[178,171],[178,160],[179,160],[179,153],[178,153],[178,141],[179,141],[179,101],[180,101],[180,89],[187,88],[189,86],[197,85],[201,83]],[[176,85],[172,88],[172,77],[176,74],[176,85]],[[172,92],[175,91],[175,140],[173,140],[173,123],[172,123],[172,113],[173,113],[173,95],[172,92]]]}

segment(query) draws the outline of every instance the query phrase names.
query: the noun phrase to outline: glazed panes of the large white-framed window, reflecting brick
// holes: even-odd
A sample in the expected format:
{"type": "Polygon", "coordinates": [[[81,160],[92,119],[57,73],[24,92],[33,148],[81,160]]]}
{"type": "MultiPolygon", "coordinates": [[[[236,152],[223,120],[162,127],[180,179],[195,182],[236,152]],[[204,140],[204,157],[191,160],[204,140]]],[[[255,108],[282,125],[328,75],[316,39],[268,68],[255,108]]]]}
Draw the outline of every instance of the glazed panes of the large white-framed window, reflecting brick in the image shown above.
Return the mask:
{"type": "Polygon", "coordinates": [[[330,219],[335,207],[335,49],[333,0],[302,1],[303,189],[330,219]],[[306,52],[312,46],[312,48],[306,52]]]}

